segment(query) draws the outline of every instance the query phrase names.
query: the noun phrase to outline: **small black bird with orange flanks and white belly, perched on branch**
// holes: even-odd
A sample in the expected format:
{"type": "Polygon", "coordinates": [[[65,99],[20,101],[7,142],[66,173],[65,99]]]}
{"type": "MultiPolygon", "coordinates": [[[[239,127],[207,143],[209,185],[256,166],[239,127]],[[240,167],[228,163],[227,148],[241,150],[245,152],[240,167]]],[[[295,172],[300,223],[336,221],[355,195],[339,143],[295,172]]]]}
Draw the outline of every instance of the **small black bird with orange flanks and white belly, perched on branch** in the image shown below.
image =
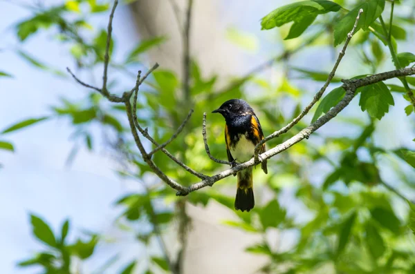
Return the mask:
{"type": "MultiPolygon", "coordinates": [[[[255,146],[264,139],[261,124],[250,105],[242,99],[225,101],[212,113],[220,113],[225,118],[225,144],[228,161],[232,166],[248,161],[254,155],[255,146]]],[[[266,151],[265,144],[259,153],[266,151]]],[[[268,173],[266,159],[261,162],[264,173],[268,173]]],[[[235,176],[235,175],[234,175],[235,176]]],[[[237,195],[235,210],[249,212],[255,206],[252,166],[237,173],[237,195]]]]}

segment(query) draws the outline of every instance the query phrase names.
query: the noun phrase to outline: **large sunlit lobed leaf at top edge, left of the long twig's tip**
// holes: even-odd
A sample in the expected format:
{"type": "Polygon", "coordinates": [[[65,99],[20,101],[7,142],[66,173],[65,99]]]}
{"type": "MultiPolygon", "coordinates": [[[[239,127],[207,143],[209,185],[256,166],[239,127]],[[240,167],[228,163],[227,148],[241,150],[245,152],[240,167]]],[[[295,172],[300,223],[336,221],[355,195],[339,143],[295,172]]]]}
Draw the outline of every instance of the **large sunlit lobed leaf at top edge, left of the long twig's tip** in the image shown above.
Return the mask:
{"type": "Polygon", "coordinates": [[[293,21],[290,32],[285,39],[293,39],[302,35],[304,30],[313,23],[318,14],[337,12],[341,6],[332,1],[301,1],[282,6],[270,12],[261,20],[261,29],[283,26],[293,21]]]}

